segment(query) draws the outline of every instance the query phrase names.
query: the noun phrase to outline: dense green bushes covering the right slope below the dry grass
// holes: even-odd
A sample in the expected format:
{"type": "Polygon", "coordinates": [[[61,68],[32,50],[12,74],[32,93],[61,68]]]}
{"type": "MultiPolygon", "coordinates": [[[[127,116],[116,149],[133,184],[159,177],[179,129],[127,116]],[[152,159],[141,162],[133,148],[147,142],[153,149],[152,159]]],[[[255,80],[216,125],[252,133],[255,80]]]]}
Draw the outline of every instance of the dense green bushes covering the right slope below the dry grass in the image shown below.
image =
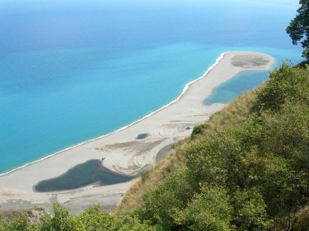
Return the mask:
{"type": "Polygon", "coordinates": [[[309,69],[284,63],[274,70],[244,123],[199,139],[186,157],[185,170],[144,196],[142,219],[196,231],[293,223],[309,203],[309,69]]]}

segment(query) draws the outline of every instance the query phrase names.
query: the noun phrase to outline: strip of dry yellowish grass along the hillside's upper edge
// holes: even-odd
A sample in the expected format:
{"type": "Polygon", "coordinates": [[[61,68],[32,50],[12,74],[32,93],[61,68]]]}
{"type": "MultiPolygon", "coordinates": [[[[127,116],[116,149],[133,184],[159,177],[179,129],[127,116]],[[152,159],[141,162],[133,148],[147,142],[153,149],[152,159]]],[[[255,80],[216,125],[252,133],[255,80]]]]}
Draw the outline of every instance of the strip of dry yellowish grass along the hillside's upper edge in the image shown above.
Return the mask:
{"type": "Polygon", "coordinates": [[[214,113],[209,121],[205,122],[208,128],[204,130],[203,134],[198,135],[194,140],[188,137],[178,142],[168,157],[157,163],[149,172],[144,174],[143,178],[136,181],[127,191],[115,212],[117,214],[132,213],[143,206],[142,196],[145,191],[158,185],[169,173],[185,167],[184,152],[192,142],[210,136],[222,126],[235,125],[244,121],[251,112],[255,96],[255,91],[246,92],[222,110],[214,113]]]}

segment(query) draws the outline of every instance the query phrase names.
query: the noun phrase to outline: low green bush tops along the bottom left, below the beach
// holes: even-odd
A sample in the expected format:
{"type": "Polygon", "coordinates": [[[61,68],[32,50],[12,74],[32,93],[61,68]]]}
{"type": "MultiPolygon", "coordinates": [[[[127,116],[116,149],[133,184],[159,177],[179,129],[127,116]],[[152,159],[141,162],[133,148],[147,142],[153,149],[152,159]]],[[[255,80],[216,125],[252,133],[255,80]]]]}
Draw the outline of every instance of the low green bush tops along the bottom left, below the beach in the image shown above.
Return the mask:
{"type": "Polygon", "coordinates": [[[22,216],[10,223],[0,221],[0,231],[155,231],[155,226],[141,224],[132,216],[116,217],[100,209],[99,205],[85,210],[79,216],[58,203],[53,206],[53,216],[49,213],[38,222],[30,222],[22,216]]]}

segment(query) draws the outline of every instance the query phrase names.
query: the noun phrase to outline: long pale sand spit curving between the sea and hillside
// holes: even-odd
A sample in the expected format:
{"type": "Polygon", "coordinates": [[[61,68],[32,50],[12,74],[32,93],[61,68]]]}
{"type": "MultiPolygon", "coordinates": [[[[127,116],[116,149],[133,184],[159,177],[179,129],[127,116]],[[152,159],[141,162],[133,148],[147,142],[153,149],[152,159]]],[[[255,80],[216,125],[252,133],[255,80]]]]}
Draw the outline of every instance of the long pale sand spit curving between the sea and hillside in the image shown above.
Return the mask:
{"type": "MultiPolygon", "coordinates": [[[[104,167],[131,174],[153,164],[158,151],[189,136],[192,128],[206,120],[224,105],[203,105],[203,100],[219,84],[242,70],[268,70],[274,58],[254,52],[228,52],[207,73],[190,85],[175,103],[144,118],[117,133],[71,148],[35,164],[0,177],[0,206],[2,210],[28,209],[43,206],[50,210],[59,201],[79,213],[95,203],[112,210],[123,198],[133,181],[111,186],[87,186],[60,192],[34,192],[39,181],[56,177],[75,165],[90,159],[104,159],[104,167]],[[139,134],[149,134],[137,140],[139,134]]],[[[163,83],[164,84],[164,83],[163,83]]],[[[134,110],[134,108],[132,108],[134,110]]]]}

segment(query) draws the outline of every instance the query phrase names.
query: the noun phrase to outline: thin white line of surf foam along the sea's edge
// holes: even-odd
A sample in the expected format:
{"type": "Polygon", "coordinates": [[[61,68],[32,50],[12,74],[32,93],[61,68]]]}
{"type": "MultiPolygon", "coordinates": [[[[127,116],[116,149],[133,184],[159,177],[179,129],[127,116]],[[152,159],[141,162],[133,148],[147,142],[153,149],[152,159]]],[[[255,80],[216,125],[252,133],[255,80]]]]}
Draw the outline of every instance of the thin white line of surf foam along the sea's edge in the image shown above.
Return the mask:
{"type": "Polygon", "coordinates": [[[70,149],[72,149],[72,148],[74,148],[74,147],[78,147],[78,146],[80,146],[80,145],[84,145],[84,144],[90,143],[90,142],[95,141],[95,140],[97,140],[97,139],[101,139],[101,138],[103,138],[103,137],[106,137],[106,136],[115,134],[115,133],[117,133],[117,132],[119,132],[119,131],[122,131],[122,130],[126,129],[126,128],[129,127],[129,126],[132,126],[132,125],[134,125],[134,124],[136,124],[136,123],[142,121],[143,119],[146,119],[147,117],[153,115],[154,113],[157,113],[157,112],[161,111],[162,109],[168,107],[169,105],[171,105],[171,104],[177,102],[177,101],[186,93],[186,91],[189,89],[189,87],[190,87],[191,84],[193,84],[194,82],[196,82],[196,81],[198,81],[198,80],[204,78],[204,77],[208,74],[208,72],[210,72],[210,71],[214,68],[214,66],[217,65],[217,64],[220,62],[220,60],[224,57],[224,55],[225,55],[226,53],[227,53],[227,52],[221,53],[220,56],[219,56],[219,58],[217,58],[216,61],[214,62],[214,64],[211,65],[211,66],[207,69],[207,71],[204,73],[204,75],[202,75],[201,77],[199,77],[199,78],[197,78],[197,79],[195,79],[195,80],[192,80],[192,81],[190,81],[188,84],[186,84],[185,87],[184,87],[184,89],[182,90],[181,94],[180,94],[176,99],[174,99],[172,102],[168,103],[167,105],[162,106],[162,107],[159,108],[158,110],[155,110],[155,111],[153,111],[153,112],[150,112],[148,115],[145,115],[142,119],[139,119],[139,120],[137,120],[137,121],[134,121],[133,123],[131,123],[131,124],[129,124],[129,125],[120,127],[119,129],[117,129],[117,130],[115,130],[115,131],[112,131],[112,132],[110,132],[110,133],[108,133],[108,134],[106,134],[106,135],[102,135],[102,136],[96,137],[96,138],[94,138],[94,139],[90,139],[90,140],[81,142],[81,143],[79,143],[79,144],[77,144],[77,145],[74,145],[74,146],[71,146],[71,147],[67,147],[67,148],[62,149],[62,150],[60,150],[60,151],[57,151],[57,152],[55,152],[55,153],[52,153],[52,154],[50,154],[50,155],[48,155],[48,156],[46,156],[46,157],[43,157],[43,158],[41,158],[41,159],[39,159],[39,160],[35,160],[35,161],[29,162],[29,163],[27,163],[27,164],[24,164],[23,166],[20,166],[20,167],[18,167],[18,168],[14,168],[14,169],[12,169],[12,170],[9,170],[9,171],[0,173],[0,176],[9,174],[9,173],[11,173],[11,172],[13,172],[13,171],[16,171],[16,170],[18,170],[18,169],[24,168],[24,167],[26,167],[26,166],[28,166],[28,165],[32,165],[32,164],[38,163],[38,162],[43,161],[43,160],[45,160],[45,159],[48,159],[48,158],[50,158],[50,157],[52,157],[52,156],[54,156],[54,155],[57,155],[57,154],[59,154],[59,153],[61,153],[61,152],[70,150],[70,149]]]}

